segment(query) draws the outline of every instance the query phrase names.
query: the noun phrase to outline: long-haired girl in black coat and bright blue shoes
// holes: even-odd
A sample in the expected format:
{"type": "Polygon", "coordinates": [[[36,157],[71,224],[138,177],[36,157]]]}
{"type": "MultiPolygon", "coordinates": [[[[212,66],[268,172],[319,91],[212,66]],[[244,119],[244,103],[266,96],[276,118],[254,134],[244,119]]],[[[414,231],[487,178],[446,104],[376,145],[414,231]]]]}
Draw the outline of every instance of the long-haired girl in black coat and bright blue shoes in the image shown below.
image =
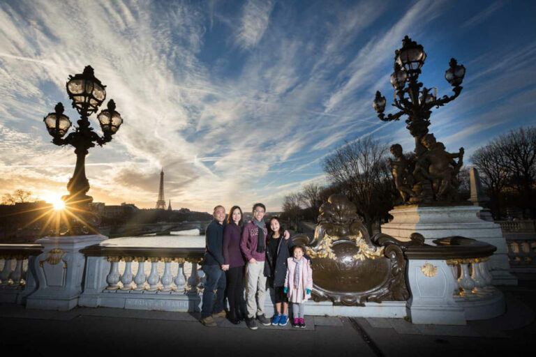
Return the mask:
{"type": "Polygon", "coordinates": [[[274,288],[277,313],[271,319],[271,324],[285,326],[288,322],[288,298],[283,292],[285,275],[287,273],[287,259],[290,257],[290,248],[294,246],[292,239],[283,237],[283,226],[278,217],[270,220],[270,233],[267,237],[265,260],[265,276],[274,288]],[[283,314],[281,314],[283,305],[283,314]]]}

